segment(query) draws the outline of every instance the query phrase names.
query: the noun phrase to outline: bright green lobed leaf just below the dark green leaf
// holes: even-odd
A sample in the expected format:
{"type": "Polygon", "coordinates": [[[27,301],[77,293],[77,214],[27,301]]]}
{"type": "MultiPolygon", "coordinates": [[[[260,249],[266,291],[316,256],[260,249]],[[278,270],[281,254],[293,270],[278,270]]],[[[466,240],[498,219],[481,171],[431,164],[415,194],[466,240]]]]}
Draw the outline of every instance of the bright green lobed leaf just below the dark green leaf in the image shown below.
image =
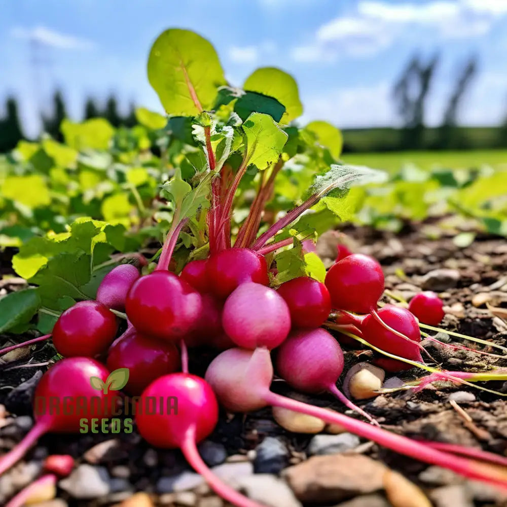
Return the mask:
{"type": "Polygon", "coordinates": [[[271,116],[252,113],[243,123],[243,131],[246,136],[247,165],[264,170],[278,160],[288,136],[271,116]]]}

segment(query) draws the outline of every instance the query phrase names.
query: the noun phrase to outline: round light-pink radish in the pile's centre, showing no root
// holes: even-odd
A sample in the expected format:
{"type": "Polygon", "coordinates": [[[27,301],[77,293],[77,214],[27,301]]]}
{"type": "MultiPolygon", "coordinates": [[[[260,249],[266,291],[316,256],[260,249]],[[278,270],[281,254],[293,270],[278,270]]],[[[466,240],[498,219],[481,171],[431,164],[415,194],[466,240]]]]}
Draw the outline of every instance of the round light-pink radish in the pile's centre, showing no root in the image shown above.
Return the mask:
{"type": "Polygon", "coordinates": [[[227,298],[222,324],[236,345],[272,349],[291,330],[291,314],[287,303],[272,288],[243,283],[227,298]]]}

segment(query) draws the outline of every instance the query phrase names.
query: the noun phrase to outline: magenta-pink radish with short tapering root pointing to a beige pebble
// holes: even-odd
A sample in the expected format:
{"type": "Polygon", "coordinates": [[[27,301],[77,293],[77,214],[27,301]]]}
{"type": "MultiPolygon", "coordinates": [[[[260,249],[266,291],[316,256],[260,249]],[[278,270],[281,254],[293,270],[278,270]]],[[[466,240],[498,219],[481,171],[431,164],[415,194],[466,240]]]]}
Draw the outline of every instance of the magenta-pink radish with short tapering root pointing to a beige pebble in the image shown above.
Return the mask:
{"type": "Polygon", "coordinates": [[[292,333],[278,349],[276,370],[295,389],[309,393],[328,391],[345,406],[376,421],[336,387],[343,372],[343,352],[327,331],[317,328],[292,333]],[[294,368],[298,365],[298,368],[294,368]]]}

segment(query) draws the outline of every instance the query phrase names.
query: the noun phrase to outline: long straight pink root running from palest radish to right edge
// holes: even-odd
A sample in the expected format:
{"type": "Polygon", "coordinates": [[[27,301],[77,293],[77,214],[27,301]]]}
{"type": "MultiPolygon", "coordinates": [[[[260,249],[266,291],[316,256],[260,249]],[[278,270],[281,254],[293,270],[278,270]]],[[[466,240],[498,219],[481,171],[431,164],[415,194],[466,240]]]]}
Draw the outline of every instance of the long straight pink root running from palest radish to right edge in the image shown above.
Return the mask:
{"type": "Polygon", "coordinates": [[[507,490],[507,470],[500,470],[485,463],[477,463],[447,454],[437,449],[432,449],[417,441],[372,426],[366,422],[352,419],[338,412],[332,412],[327,409],[298,402],[281,396],[280,394],[275,394],[269,390],[265,393],[265,401],[268,405],[318,417],[328,424],[338,424],[359,437],[373,440],[377,442],[377,444],[387,447],[397,453],[410,456],[419,461],[449,468],[453,470],[453,472],[461,474],[469,479],[495,484],[507,490]]]}

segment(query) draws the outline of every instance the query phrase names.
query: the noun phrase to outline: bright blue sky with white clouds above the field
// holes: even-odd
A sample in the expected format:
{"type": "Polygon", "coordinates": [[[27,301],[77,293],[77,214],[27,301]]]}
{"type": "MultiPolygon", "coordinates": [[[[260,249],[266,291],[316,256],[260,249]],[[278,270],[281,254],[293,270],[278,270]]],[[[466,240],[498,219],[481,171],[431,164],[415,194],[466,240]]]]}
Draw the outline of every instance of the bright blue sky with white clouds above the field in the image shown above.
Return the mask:
{"type": "Polygon", "coordinates": [[[341,128],[399,125],[393,84],[415,54],[441,59],[426,123],[439,125],[456,73],[479,70],[459,111],[464,125],[507,116],[507,0],[0,0],[0,111],[15,95],[28,135],[55,88],[79,120],[87,96],[115,93],[162,112],[146,62],[166,28],[194,30],[241,86],[259,66],[297,80],[303,121],[341,128]]]}

